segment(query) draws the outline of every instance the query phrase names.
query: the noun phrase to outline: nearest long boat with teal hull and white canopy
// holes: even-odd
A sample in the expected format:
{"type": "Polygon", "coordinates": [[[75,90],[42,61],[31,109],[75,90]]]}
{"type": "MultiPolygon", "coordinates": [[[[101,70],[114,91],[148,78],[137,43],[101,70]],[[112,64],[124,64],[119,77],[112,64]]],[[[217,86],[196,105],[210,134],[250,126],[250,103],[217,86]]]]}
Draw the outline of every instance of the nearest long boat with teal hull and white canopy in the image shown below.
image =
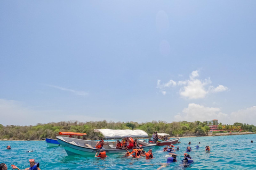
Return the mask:
{"type": "MultiPolygon", "coordinates": [[[[103,146],[103,150],[107,154],[117,154],[126,152],[125,149],[116,149],[116,141],[108,139],[122,139],[125,137],[131,138],[147,138],[148,133],[142,130],[111,130],[111,129],[94,129],[94,132],[100,132],[105,137],[105,143],[108,142],[108,145],[103,146]]],[[[94,148],[98,141],[92,140],[82,140],[68,137],[56,137],[61,146],[66,150],[68,155],[91,155],[94,156],[96,152],[99,152],[100,149],[94,148]]],[[[138,140],[138,145],[141,146],[144,150],[155,148],[156,144],[150,144],[138,140]]],[[[132,151],[130,149],[129,151],[132,151]]]]}

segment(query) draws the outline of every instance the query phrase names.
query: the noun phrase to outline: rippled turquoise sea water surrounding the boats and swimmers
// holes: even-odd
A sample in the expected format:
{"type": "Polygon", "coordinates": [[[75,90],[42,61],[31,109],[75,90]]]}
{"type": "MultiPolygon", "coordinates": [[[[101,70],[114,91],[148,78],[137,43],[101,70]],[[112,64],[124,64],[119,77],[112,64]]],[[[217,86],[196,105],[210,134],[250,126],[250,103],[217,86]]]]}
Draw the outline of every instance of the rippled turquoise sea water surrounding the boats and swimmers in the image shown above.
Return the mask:
{"type": "MultiPolygon", "coordinates": [[[[256,134],[232,135],[222,137],[181,138],[177,163],[171,163],[162,169],[256,169],[256,134]],[[253,143],[251,143],[253,140],[253,143]],[[193,149],[189,155],[194,164],[188,167],[180,166],[187,144],[191,141],[193,149]],[[199,144],[199,149],[196,145],[199,144]],[[205,152],[205,146],[211,147],[211,152],[205,152]]],[[[106,159],[85,156],[67,156],[61,147],[49,148],[45,141],[0,141],[0,163],[5,163],[8,169],[11,164],[20,169],[29,167],[28,159],[35,159],[41,169],[157,169],[161,163],[166,163],[167,152],[164,147],[153,149],[154,159],[145,157],[124,158],[124,154],[109,155],[106,159]],[[11,150],[5,149],[7,145],[11,150]],[[28,150],[34,150],[27,153],[28,150]]]]}

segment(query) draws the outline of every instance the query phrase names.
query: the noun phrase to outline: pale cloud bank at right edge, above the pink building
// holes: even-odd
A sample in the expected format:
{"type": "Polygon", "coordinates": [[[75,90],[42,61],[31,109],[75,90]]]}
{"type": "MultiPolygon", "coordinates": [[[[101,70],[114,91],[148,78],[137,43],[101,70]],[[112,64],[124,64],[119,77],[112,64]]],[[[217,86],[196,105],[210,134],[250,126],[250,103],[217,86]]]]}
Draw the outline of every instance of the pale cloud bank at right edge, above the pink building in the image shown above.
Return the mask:
{"type": "Polygon", "coordinates": [[[239,122],[239,123],[248,123],[248,124],[254,124],[256,120],[256,106],[241,109],[236,112],[232,112],[230,114],[230,118],[232,122],[239,122]]]}

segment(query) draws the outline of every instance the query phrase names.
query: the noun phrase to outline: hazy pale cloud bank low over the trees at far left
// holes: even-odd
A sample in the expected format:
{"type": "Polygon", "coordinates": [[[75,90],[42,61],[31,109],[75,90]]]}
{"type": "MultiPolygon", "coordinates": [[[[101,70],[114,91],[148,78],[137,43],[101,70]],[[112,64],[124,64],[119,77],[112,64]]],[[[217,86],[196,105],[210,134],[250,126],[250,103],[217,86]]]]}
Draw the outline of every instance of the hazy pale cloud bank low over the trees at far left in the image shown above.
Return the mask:
{"type": "MultiPolygon", "coordinates": [[[[37,123],[50,123],[60,121],[78,120],[102,121],[110,120],[109,117],[99,117],[97,114],[84,115],[84,113],[68,113],[61,110],[37,110],[27,107],[19,101],[0,99],[0,124],[5,125],[36,125],[37,123]]],[[[113,118],[111,118],[113,120],[113,118]]]]}

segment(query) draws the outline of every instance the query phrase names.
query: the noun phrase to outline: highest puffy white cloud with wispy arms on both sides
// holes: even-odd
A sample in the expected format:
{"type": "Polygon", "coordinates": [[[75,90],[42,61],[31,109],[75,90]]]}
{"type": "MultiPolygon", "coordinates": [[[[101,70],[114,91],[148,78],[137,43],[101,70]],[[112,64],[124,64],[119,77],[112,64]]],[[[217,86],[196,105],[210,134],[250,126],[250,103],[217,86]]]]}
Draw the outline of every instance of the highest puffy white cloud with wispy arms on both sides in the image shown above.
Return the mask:
{"type": "Polygon", "coordinates": [[[167,88],[175,87],[177,85],[181,86],[179,90],[180,96],[188,99],[205,98],[207,94],[228,90],[228,88],[223,85],[219,85],[216,88],[214,88],[213,86],[209,87],[209,84],[212,83],[210,78],[205,80],[199,80],[198,77],[199,71],[196,70],[189,75],[188,80],[178,81],[178,83],[174,80],[170,80],[167,83],[161,84],[161,80],[157,80],[157,88],[160,89],[161,92],[165,91],[165,95],[167,88]]]}

